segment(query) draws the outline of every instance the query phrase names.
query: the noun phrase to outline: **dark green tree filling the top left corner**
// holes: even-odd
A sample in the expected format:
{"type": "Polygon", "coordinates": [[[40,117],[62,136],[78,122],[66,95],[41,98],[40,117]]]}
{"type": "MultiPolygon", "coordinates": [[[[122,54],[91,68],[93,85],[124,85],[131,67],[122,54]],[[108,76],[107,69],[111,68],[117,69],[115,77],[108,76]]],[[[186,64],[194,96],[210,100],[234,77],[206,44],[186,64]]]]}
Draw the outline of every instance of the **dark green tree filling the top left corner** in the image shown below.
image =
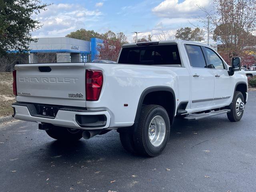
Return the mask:
{"type": "Polygon", "coordinates": [[[0,0],[0,56],[8,50],[28,51],[31,32],[42,25],[32,14],[46,10],[40,0],[0,0]]]}

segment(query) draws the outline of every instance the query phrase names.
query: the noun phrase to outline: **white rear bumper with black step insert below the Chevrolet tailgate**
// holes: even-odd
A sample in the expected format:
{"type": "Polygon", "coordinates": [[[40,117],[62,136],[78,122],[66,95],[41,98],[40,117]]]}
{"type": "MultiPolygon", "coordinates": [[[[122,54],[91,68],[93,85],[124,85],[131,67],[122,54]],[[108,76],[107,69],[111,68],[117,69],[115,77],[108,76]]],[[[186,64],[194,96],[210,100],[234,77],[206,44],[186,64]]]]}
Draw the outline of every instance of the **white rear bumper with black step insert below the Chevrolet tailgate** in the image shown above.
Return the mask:
{"type": "Polygon", "coordinates": [[[83,130],[106,129],[110,126],[110,114],[106,110],[81,110],[60,108],[55,117],[38,115],[32,104],[14,103],[14,118],[30,122],[44,122],[55,126],[83,130]]]}

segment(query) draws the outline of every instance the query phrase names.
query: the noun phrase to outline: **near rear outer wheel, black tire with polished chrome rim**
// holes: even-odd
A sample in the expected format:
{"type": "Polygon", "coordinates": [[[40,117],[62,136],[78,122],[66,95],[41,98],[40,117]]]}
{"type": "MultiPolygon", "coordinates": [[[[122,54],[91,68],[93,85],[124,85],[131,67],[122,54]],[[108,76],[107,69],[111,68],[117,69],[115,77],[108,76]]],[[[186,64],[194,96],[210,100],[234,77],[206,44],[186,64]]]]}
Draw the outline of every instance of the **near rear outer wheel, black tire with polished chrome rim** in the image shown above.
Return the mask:
{"type": "Polygon", "coordinates": [[[159,105],[142,108],[138,127],[134,131],[134,148],[146,156],[158,156],[166,147],[170,135],[170,120],[159,105]]]}

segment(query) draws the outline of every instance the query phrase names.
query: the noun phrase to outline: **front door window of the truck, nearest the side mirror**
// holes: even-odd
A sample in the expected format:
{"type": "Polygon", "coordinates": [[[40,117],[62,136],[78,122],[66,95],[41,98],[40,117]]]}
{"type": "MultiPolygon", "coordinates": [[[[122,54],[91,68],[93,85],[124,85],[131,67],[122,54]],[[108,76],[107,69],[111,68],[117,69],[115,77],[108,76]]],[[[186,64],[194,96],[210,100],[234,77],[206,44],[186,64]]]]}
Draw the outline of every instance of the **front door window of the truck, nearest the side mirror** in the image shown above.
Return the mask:
{"type": "Polygon", "coordinates": [[[225,69],[222,60],[213,50],[206,47],[205,52],[209,61],[208,68],[225,69]]]}

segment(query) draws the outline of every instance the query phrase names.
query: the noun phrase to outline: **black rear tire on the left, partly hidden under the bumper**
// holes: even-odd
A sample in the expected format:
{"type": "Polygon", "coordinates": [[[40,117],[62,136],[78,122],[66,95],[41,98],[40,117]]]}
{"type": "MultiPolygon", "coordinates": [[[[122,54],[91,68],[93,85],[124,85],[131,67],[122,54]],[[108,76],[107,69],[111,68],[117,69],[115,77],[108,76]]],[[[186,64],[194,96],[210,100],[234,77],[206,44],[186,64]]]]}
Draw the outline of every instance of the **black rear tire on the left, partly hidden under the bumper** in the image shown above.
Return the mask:
{"type": "Polygon", "coordinates": [[[70,129],[66,127],[52,126],[50,129],[46,130],[46,133],[56,140],[60,141],[77,141],[82,138],[82,130],[70,129]]]}

